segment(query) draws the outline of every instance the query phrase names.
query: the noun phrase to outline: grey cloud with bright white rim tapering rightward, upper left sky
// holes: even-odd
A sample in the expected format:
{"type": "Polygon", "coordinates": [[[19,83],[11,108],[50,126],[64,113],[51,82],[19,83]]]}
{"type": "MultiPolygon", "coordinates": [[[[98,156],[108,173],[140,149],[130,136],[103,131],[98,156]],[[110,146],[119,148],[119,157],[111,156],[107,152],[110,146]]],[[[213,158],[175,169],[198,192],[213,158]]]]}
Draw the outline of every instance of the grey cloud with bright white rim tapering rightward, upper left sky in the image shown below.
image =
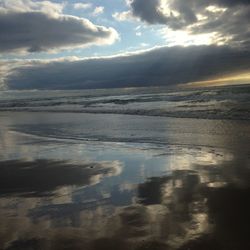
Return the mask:
{"type": "Polygon", "coordinates": [[[61,14],[63,5],[48,1],[3,1],[0,5],[0,52],[40,52],[112,44],[113,28],[61,14]],[[27,5],[24,5],[27,3],[27,5]]]}

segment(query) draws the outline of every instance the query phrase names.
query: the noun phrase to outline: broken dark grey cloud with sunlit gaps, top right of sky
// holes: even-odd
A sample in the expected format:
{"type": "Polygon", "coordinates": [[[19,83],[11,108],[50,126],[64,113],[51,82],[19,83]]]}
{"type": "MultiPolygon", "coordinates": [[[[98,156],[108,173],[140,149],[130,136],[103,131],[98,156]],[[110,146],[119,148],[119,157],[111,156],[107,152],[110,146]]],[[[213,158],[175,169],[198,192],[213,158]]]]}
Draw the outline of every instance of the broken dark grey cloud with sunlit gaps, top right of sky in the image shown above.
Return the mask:
{"type": "Polygon", "coordinates": [[[182,0],[130,0],[129,10],[115,13],[120,21],[132,16],[149,25],[164,25],[189,35],[216,35],[214,44],[248,47],[250,43],[250,2],[229,1],[182,1],[182,0]]]}

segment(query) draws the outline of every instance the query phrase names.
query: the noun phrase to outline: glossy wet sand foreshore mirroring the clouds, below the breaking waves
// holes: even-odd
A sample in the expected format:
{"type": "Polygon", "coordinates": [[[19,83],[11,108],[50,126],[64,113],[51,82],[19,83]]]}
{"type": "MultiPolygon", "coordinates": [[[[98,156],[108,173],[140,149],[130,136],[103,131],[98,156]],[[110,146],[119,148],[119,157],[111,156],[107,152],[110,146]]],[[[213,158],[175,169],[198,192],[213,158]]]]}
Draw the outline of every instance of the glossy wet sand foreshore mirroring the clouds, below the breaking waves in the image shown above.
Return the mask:
{"type": "Polygon", "coordinates": [[[0,249],[250,249],[250,124],[0,114],[0,249]]]}

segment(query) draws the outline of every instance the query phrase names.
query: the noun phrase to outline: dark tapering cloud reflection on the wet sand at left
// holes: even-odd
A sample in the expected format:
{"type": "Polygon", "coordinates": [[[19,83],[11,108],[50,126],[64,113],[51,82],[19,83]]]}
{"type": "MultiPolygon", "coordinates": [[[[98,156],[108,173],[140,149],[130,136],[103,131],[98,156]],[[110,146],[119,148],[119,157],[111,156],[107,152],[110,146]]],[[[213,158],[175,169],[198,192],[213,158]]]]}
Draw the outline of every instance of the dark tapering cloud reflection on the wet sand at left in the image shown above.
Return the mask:
{"type": "Polygon", "coordinates": [[[116,162],[69,163],[65,161],[10,160],[0,162],[0,196],[46,196],[63,186],[98,183],[102,177],[120,174],[116,162]]]}

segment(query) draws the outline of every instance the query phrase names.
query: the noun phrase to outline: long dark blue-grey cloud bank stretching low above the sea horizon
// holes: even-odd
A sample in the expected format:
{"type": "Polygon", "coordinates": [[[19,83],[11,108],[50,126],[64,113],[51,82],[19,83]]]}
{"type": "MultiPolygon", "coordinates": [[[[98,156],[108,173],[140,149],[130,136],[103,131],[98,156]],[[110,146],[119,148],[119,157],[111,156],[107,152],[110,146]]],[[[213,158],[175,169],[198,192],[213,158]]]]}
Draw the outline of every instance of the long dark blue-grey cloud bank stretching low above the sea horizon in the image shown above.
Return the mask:
{"type": "Polygon", "coordinates": [[[81,89],[176,85],[250,69],[250,52],[226,46],[161,47],[77,61],[13,62],[9,89],[81,89]]]}

